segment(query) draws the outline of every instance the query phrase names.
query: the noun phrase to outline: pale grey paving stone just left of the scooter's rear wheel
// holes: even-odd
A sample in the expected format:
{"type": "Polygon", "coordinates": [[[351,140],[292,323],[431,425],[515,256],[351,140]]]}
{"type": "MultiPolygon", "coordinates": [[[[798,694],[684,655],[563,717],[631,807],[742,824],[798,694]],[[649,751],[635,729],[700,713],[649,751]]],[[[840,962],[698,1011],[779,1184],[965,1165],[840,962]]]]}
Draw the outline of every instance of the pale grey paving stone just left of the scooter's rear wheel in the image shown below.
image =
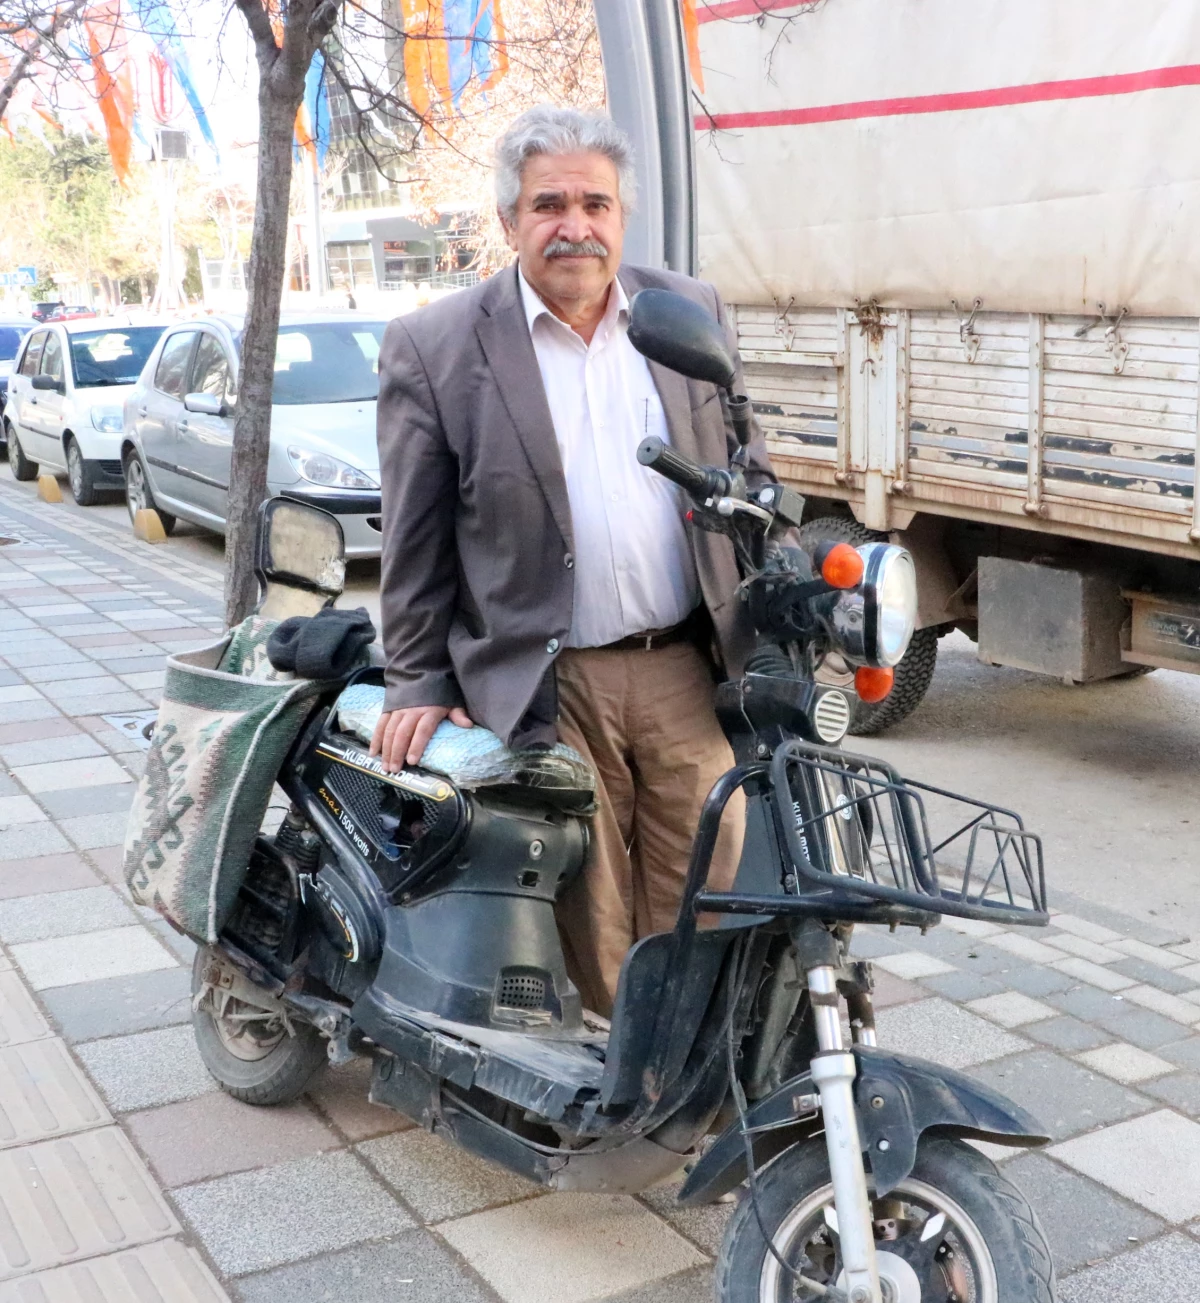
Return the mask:
{"type": "Polygon", "coordinates": [[[85,1041],[76,1045],[76,1054],[117,1113],[193,1100],[216,1089],[190,1023],[85,1041]]]}

